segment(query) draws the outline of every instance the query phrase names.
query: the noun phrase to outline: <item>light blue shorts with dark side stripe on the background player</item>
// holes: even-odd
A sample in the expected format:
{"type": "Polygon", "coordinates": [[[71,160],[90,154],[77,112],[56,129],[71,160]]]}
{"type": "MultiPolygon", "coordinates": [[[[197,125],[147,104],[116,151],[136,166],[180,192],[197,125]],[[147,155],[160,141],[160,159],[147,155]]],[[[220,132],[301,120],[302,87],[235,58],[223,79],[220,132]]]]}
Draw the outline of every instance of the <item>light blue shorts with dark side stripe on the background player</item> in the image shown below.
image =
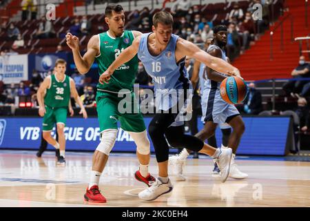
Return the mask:
{"type": "Polygon", "coordinates": [[[203,91],[201,101],[204,122],[214,122],[216,124],[229,123],[232,117],[240,115],[236,106],[227,104],[220,97],[220,90],[207,88],[203,91]]]}

